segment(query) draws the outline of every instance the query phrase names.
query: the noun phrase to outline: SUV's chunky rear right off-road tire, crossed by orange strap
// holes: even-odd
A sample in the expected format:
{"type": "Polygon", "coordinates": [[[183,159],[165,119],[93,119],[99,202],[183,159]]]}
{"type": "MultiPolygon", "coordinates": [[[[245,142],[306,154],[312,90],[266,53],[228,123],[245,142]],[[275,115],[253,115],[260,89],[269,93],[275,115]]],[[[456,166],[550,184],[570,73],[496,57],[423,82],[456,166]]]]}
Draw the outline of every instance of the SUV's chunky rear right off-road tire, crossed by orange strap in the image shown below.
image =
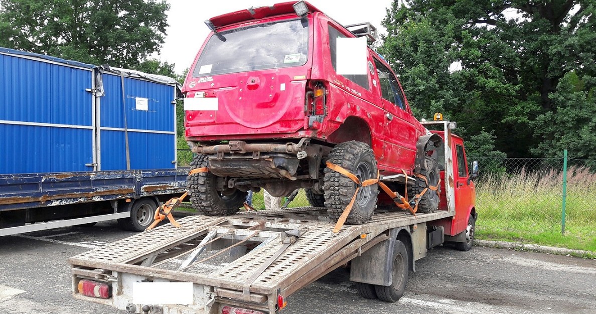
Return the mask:
{"type": "MultiPolygon", "coordinates": [[[[377,161],[373,150],[363,142],[349,141],[336,145],[328,156],[328,161],[342,166],[356,175],[361,181],[377,178],[377,161]]],[[[335,221],[339,219],[356,191],[356,183],[339,172],[325,168],[323,191],[327,214],[335,221]]],[[[377,207],[377,184],[361,187],[356,195],[346,224],[367,223],[377,207]]]]}

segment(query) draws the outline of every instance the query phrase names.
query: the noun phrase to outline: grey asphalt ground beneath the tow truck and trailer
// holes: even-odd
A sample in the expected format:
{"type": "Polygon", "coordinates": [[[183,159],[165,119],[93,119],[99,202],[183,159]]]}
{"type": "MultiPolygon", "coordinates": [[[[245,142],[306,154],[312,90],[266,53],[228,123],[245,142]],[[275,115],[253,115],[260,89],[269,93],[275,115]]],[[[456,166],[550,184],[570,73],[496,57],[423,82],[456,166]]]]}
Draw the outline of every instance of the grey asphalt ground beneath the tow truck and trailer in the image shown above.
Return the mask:
{"type": "MultiPolygon", "coordinates": [[[[132,234],[103,222],[0,238],[0,313],[126,313],[74,300],[66,259],[132,234]]],[[[362,299],[337,269],[290,296],[281,313],[596,313],[596,260],[445,246],[416,268],[396,303],[362,299]]]]}

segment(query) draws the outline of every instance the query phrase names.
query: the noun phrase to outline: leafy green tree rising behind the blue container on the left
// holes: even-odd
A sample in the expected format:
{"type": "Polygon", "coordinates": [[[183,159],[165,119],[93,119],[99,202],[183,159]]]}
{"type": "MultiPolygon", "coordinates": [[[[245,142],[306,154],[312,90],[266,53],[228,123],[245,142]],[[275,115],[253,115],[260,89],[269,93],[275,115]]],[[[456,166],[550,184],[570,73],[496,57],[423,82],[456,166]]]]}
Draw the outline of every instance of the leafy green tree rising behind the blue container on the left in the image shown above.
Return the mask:
{"type": "Polygon", "coordinates": [[[0,0],[0,46],[134,67],[159,51],[168,9],[156,0],[0,0]]]}

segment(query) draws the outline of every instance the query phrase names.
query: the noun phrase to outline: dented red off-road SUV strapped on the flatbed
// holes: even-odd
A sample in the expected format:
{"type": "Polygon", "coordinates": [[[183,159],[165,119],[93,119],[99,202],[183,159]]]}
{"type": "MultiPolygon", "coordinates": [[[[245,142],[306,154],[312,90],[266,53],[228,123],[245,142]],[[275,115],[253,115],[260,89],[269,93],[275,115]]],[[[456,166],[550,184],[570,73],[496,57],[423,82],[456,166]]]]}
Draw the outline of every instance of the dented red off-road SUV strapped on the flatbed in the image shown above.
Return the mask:
{"type": "MultiPolygon", "coordinates": [[[[338,219],[360,181],[379,172],[393,191],[418,194],[439,181],[434,148],[441,139],[412,116],[389,64],[367,48],[367,73],[336,73],[337,38],[356,37],[307,2],[285,2],[213,17],[212,33],[184,83],[186,139],[197,154],[189,176],[195,209],[238,211],[247,191],[283,197],[305,188],[312,206],[338,219]],[[418,175],[418,176],[417,176],[418,175]],[[423,178],[424,177],[424,178],[423,178]]],[[[359,35],[371,37],[364,24],[359,35]]],[[[365,223],[377,184],[358,189],[346,223],[365,223]]],[[[437,210],[429,189],[420,212],[437,210]]]]}

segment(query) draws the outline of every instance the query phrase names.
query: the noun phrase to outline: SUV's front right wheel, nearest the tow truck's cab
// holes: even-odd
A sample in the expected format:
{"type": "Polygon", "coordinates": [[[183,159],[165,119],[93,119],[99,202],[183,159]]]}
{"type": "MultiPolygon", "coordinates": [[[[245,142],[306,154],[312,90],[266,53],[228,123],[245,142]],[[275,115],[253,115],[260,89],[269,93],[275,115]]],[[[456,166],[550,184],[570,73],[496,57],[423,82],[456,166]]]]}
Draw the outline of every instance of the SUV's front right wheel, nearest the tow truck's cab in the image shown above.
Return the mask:
{"type": "MultiPolygon", "coordinates": [[[[409,199],[414,198],[414,195],[420,194],[429,185],[437,186],[439,184],[440,172],[436,159],[431,156],[426,156],[420,169],[420,174],[426,177],[429,184],[427,185],[426,181],[422,178],[416,177],[414,184],[408,185],[409,199]]],[[[418,202],[418,213],[434,213],[439,209],[440,186],[437,187],[439,188],[437,191],[427,189],[424,195],[422,195],[418,202]]]]}

